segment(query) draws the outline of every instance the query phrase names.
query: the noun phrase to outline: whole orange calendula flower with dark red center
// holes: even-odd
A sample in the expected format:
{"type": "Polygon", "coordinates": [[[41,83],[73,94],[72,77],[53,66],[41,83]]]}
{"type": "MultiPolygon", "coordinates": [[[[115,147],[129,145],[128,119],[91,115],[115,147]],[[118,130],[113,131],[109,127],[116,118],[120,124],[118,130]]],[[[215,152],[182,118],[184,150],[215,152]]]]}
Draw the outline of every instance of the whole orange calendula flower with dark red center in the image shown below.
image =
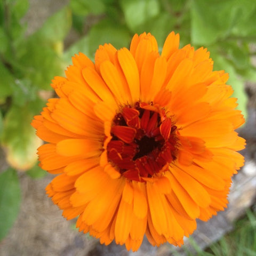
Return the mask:
{"type": "Polygon", "coordinates": [[[227,206],[244,123],[228,74],[213,71],[209,52],[179,49],[167,36],[134,35],[130,50],[99,46],[95,63],[75,55],[52,87],[59,98],[35,116],[42,169],[58,174],[47,194],[100,242],[138,250],[181,245],[227,206]]]}

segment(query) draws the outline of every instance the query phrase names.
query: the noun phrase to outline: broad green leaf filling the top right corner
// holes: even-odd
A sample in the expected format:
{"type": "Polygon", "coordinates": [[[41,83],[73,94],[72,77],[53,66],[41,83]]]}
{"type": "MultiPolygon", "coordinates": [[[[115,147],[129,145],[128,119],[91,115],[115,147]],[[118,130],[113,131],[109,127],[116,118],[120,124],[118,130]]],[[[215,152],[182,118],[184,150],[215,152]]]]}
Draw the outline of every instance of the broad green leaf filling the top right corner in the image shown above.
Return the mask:
{"type": "Polygon", "coordinates": [[[225,38],[252,36],[256,39],[256,1],[193,0],[191,39],[193,44],[213,44],[225,38]]]}

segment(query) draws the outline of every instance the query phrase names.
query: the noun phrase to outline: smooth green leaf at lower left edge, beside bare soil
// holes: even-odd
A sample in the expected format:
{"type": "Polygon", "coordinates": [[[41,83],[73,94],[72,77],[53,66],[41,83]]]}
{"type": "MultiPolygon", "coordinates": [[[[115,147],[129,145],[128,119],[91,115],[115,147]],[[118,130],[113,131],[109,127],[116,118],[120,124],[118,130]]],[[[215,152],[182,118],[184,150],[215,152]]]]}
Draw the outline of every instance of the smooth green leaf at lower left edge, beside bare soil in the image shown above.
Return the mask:
{"type": "Polygon", "coordinates": [[[20,209],[20,185],[17,172],[8,169],[0,174],[0,240],[11,229],[20,209]]]}

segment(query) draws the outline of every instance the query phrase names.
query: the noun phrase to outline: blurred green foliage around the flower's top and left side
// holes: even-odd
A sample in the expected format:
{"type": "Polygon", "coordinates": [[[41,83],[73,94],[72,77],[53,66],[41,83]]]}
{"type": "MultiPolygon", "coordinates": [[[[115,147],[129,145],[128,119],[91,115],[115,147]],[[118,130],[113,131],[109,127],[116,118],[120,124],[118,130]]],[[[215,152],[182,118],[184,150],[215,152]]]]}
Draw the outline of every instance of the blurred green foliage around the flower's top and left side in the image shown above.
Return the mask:
{"type": "MultiPolygon", "coordinates": [[[[160,51],[172,30],[180,33],[181,46],[207,47],[214,68],[230,74],[229,84],[246,116],[244,82],[256,82],[251,62],[256,54],[256,1],[71,0],[31,35],[23,19],[28,8],[28,0],[0,1],[0,142],[15,170],[27,170],[33,178],[44,175],[36,156],[42,141],[30,122],[52,93],[51,79],[64,75],[75,53],[93,59],[100,44],[129,47],[134,33],[153,34],[160,51]],[[70,30],[76,39],[66,41],[70,30]]],[[[13,169],[1,174],[0,183],[17,182],[13,169]]],[[[17,213],[14,204],[10,207],[17,213]]]]}

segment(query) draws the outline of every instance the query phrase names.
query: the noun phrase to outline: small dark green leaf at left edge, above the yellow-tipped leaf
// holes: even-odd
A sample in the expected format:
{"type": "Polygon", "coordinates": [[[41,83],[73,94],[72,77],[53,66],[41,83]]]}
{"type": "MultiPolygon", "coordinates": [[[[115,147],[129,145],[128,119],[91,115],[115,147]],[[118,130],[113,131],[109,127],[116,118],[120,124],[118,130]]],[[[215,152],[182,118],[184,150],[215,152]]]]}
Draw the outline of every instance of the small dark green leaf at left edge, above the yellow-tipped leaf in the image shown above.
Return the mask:
{"type": "Polygon", "coordinates": [[[0,61],[0,99],[12,94],[12,86],[14,85],[14,77],[10,71],[0,61]]]}

